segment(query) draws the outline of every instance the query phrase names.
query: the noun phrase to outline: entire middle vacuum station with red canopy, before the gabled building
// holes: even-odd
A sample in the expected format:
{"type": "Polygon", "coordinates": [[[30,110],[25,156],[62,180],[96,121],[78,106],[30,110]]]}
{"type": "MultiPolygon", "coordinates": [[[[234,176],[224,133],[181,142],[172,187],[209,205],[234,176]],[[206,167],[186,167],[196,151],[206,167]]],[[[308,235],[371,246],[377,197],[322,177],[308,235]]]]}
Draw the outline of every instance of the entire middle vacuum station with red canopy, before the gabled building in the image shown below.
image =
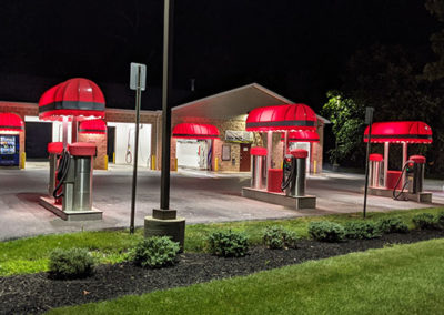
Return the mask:
{"type": "MultiPolygon", "coordinates": [[[[266,149],[251,149],[251,187],[242,195],[264,202],[299,209],[315,209],[316,197],[305,195],[305,165],[309,152],[289,150],[289,132],[316,132],[316,114],[305,104],[258,108],[246,119],[246,131],[268,132],[266,149]],[[272,169],[273,132],[282,132],[282,169],[272,169]]],[[[317,138],[319,139],[319,138],[317,138]]]]}

